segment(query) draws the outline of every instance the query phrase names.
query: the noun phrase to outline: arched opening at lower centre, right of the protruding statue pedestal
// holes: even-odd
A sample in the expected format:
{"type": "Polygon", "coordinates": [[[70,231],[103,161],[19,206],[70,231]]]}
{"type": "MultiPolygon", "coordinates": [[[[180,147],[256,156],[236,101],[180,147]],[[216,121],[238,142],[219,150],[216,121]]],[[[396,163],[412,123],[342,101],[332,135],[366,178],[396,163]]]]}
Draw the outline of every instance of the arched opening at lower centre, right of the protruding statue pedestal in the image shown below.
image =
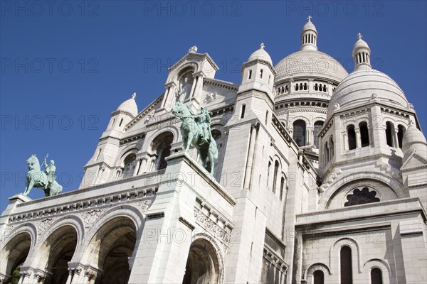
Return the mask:
{"type": "Polygon", "coordinates": [[[214,284],[220,280],[216,249],[206,239],[196,239],[190,246],[182,284],[214,284]]]}

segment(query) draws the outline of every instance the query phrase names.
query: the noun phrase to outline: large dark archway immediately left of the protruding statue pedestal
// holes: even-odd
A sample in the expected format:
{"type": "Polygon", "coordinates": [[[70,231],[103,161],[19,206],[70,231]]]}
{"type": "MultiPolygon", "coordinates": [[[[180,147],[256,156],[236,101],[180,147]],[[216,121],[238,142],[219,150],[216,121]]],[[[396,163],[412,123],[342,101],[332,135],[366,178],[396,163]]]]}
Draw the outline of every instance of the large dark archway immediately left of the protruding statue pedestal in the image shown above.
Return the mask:
{"type": "Polygon", "coordinates": [[[130,277],[129,258],[135,249],[137,230],[127,217],[111,219],[91,241],[95,248],[93,266],[97,266],[95,284],[126,284],[130,277]]]}

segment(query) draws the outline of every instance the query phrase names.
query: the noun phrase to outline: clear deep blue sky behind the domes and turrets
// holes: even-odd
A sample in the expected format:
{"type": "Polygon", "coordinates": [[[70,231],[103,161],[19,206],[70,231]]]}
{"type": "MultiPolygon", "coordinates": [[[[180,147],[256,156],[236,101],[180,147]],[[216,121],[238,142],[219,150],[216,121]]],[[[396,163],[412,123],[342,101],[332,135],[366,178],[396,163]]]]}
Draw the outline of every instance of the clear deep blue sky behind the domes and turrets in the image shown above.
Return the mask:
{"type": "MultiPolygon", "coordinates": [[[[139,110],[164,91],[167,67],[192,45],[216,77],[239,83],[265,43],[276,64],[300,47],[308,14],[322,52],[352,69],[357,33],[426,125],[426,1],[0,1],[0,211],[23,192],[26,159],[56,160],[76,190],[110,114],[137,92],[139,110]]],[[[42,197],[33,189],[30,197],[42,197]]]]}

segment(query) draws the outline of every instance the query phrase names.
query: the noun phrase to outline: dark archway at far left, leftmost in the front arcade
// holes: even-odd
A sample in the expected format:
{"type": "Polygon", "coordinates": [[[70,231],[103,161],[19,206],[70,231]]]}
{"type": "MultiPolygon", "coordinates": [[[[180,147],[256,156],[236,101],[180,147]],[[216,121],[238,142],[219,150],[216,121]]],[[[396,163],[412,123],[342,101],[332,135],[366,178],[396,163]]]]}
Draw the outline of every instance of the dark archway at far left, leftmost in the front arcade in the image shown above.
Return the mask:
{"type": "Polygon", "coordinates": [[[23,232],[14,236],[1,251],[1,273],[6,275],[5,283],[18,283],[20,267],[31,248],[30,234],[23,232]]]}

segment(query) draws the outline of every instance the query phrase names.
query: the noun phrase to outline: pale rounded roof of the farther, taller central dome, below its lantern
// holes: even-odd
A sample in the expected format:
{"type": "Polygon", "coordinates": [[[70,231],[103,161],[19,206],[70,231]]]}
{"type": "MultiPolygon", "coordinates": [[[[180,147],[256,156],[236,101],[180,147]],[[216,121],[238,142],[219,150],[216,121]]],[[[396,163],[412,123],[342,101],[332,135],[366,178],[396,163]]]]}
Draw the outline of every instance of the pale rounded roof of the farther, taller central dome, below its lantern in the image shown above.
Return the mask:
{"type": "Polygon", "coordinates": [[[280,60],[275,65],[277,75],[275,82],[290,77],[325,77],[325,79],[341,82],[348,73],[341,63],[326,53],[318,50],[300,50],[280,60]]]}

